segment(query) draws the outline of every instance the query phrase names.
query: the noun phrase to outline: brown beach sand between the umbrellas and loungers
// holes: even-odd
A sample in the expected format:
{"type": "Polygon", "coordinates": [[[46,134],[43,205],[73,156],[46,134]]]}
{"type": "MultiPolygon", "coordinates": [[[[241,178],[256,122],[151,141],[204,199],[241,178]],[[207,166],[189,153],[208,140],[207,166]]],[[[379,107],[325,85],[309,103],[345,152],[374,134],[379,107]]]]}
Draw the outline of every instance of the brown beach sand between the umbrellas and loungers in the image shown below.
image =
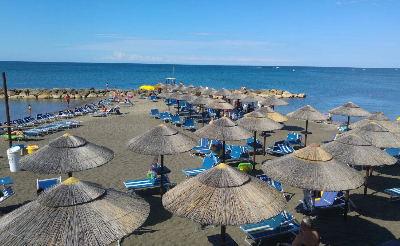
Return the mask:
{"type": "MultiPolygon", "coordinates": [[[[98,100],[100,98],[93,99],[93,101],[98,100]]],[[[88,102],[88,99],[84,102],[88,102]]],[[[76,172],[73,176],[82,180],[100,183],[105,187],[114,187],[117,190],[125,191],[123,182],[125,180],[146,178],[146,172],[154,158],[154,156],[144,156],[130,152],[125,148],[125,144],[132,137],[150,130],[162,122],[159,119],[150,117],[150,109],[158,108],[162,112],[165,108],[164,102],[150,102],[138,99],[138,97],[134,97],[132,102],[134,102],[135,106],[121,107],[121,112],[124,113],[122,115],[104,118],[90,117],[88,115],[79,116],[76,119],[82,121],[81,127],[46,135],[40,137],[39,140],[31,138],[21,143],[44,146],[50,140],[69,132],[76,136],[84,137],[90,142],[111,148],[115,157],[109,163],[91,170],[76,172]]],[[[171,108],[171,111],[174,110],[174,108],[171,108]]],[[[276,110],[279,112],[279,106],[276,106],[276,110]]],[[[286,139],[288,132],[300,132],[305,127],[304,121],[289,119],[285,123],[286,128],[284,130],[278,130],[266,139],[267,146],[272,146],[274,141],[286,139]]],[[[201,127],[201,123],[197,125],[201,127]]],[[[174,127],[173,125],[171,126],[174,127]]],[[[336,127],[337,125],[309,122],[308,130],[314,132],[314,134],[308,136],[308,144],[330,140],[334,132],[337,131],[336,127]]],[[[193,132],[180,127],[178,129],[198,139],[193,132]]],[[[234,142],[234,144],[236,143],[244,144],[245,140],[234,142]]],[[[2,150],[0,160],[3,163],[0,169],[0,176],[10,176],[14,181],[12,188],[15,194],[1,204],[2,212],[7,213],[22,202],[35,199],[36,179],[53,178],[57,175],[43,175],[26,171],[10,172],[6,158],[8,142],[0,142],[0,147],[2,150]]],[[[250,152],[250,156],[252,156],[252,152],[250,152]]],[[[276,158],[276,156],[257,154],[256,160],[258,164],[252,175],[262,174],[260,163],[270,158],[276,158]]],[[[192,157],[186,152],[174,156],[166,156],[164,163],[172,170],[169,175],[170,180],[178,183],[185,179],[185,175],[181,170],[200,167],[202,159],[192,157]]],[[[237,166],[238,163],[228,162],[231,166],[237,166]]],[[[350,191],[350,199],[356,204],[357,208],[351,207],[352,212],[348,214],[347,222],[343,221],[344,210],[340,208],[327,210],[317,218],[315,226],[321,236],[321,245],[376,245],[400,237],[400,202],[388,204],[388,195],[383,192],[384,189],[399,186],[399,165],[376,168],[374,171],[376,172],[370,178],[368,186],[368,196],[364,197],[362,195],[364,187],[350,191]]],[[[362,174],[365,175],[365,171],[362,171],[362,174]]],[[[63,174],[61,177],[62,180],[65,180],[67,175],[63,174]]],[[[299,200],[302,198],[302,190],[284,185],[284,191],[288,199],[286,211],[301,220],[302,214],[297,214],[293,208],[299,204],[299,200]]],[[[207,236],[220,232],[218,226],[213,229],[194,232],[193,222],[172,215],[162,207],[157,188],[136,190],[136,193],[143,196],[150,203],[150,216],[144,223],[143,229],[124,238],[122,245],[210,245],[207,241],[207,236]]],[[[239,245],[248,245],[244,242],[245,234],[239,226],[227,227],[226,232],[239,245]]],[[[262,245],[290,242],[292,236],[292,234],[274,236],[263,240],[262,245]]]]}

